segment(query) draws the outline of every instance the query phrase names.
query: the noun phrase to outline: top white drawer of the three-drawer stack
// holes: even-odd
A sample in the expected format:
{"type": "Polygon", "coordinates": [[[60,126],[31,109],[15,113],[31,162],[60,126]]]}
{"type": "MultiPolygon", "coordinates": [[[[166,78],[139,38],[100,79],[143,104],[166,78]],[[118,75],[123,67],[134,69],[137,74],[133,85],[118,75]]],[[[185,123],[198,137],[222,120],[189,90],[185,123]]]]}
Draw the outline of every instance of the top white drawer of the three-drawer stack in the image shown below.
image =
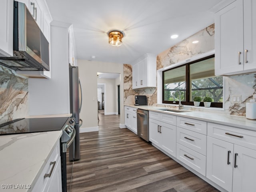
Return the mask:
{"type": "Polygon", "coordinates": [[[207,134],[207,123],[205,121],[184,118],[184,117],[177,117],[177,126],[194,131],[194,132],[198,132],[204,135],[207,134]]]}

